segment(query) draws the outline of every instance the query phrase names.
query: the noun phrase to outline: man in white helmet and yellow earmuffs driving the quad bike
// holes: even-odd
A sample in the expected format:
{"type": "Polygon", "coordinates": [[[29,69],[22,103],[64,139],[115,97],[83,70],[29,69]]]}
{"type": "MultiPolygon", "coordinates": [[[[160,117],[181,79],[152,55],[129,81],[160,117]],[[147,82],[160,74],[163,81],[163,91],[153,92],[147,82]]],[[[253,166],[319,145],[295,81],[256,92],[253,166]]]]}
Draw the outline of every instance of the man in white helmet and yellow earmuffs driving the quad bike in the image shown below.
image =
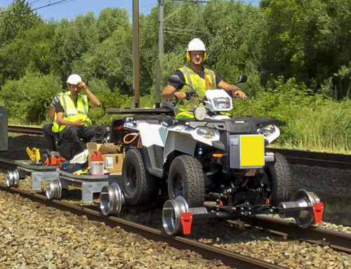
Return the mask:
{"type": "MultiPolygon", "coordinates": [[[[196,91],[199,98],[204,98],[205,91],[213,90],[216,88],[223,88],[225,91],[232,91],[234,94],[239,95],[240,98],[246,98],[243,91],[232,84],[227,84],[223,79],[215,74],[212,70],[202,66],[202,63],[206,60],[206,47],[204,42],[200,39],[195,38],[187,45],[187,61],[190,62],[190,66],[183,66],[176,70],[176,75],[180,77],[185,84],[190,85],[194,91],[196,91]]],[[[183,86],[183,84],[168,83],[162,92],[162,97],[165,99],[171,99],[176,97],[176,119],[192,119],[195,104],[194,97],[187,100],[187,91],[190,91],[190,86],[183,86]]],[[[201,104],[200,104],[201,105],[201,104]]]]}

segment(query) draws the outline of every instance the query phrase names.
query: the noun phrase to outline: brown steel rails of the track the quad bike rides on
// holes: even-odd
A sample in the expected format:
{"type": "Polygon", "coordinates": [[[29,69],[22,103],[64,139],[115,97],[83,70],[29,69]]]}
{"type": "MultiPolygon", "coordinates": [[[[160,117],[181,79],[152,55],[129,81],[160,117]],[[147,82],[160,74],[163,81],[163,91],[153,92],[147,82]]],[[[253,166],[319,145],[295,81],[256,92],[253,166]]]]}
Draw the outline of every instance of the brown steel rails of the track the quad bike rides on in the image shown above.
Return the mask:
{"type": "MultiPolygon", "coordinates": [[[[6,159],[0,159],[0,162],[8,165],[15,164],[11,160],[6,159]]],[[[21,190],[18,188],[7,188],[6,185],[2,184],[0,184],[0,190],[19,193],[23,197],[28,197],[29,199],[35,201],[39,200],[47,206],[55,206],[60,210],[72,211],[74,214],[84,214],[92,220],[103,221],[111,227],[119,225],[121,228],[124,228],[124,230],[143,235],[143,237],[149,240],[167,242],[169,245],[176,247],[177,249],[190,249],[201,254],[201,256],[208,260],[213,260],[214,258],[220,259],[226,265],[235,266],[237,268],[283,268],[279,265],[274,265],[272,263],[260,261],[259,259],[247,257],[236,252],[213,247],[209,244],[203,244],[186,237],[169,237],[161,230],[127,221],[124,218],[103,216],[100,210],[97,211],[56,199],[48,200],[44,195],[39,195],[32,191],[21,190]]],[[[244,227],[247,226],[258,230],[263,230],[265,232],[271,232],[273,235],[283,236],[287,240],[301,240],[316,245],[329,246],[336,251],[343,251],[347,254],[351,253],[351,234],[315,227],[302,230],[294,225],[292,221],[285,221],[281,218],[271,218],[267,216],[241,218],[241,221],[246,223],[244,227]]]]}

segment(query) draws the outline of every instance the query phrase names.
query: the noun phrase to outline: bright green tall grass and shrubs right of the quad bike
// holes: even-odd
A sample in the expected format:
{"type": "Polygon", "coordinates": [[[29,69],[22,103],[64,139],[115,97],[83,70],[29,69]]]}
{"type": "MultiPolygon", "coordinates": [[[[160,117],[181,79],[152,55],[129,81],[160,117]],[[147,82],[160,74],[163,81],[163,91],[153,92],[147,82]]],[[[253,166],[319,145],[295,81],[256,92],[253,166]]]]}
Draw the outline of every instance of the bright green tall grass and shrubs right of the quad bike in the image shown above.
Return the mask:
{"type": "Polygon", "coordinates": [[[277,145],[310,150],[351,152],[351,102],[333,102],[312,94],[304,84],[284,77],[260,96],[234,100],[234,116],[272,117],[282,122],[277,145]]]}

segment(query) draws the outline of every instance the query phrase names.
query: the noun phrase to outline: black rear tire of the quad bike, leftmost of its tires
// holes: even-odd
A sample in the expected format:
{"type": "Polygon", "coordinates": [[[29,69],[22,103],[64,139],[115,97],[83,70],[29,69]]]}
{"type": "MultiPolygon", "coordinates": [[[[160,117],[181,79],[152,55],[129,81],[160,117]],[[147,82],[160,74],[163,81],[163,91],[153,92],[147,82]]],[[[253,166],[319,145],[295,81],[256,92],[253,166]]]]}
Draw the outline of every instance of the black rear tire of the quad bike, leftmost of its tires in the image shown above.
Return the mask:
{"type": "Polygon", "coordinates": [[[128,204],[147,204],[157,197],[157,178],[146,171],[139,150],[128,150],[126,153],[122,166],[122,182],[128,204]]]}

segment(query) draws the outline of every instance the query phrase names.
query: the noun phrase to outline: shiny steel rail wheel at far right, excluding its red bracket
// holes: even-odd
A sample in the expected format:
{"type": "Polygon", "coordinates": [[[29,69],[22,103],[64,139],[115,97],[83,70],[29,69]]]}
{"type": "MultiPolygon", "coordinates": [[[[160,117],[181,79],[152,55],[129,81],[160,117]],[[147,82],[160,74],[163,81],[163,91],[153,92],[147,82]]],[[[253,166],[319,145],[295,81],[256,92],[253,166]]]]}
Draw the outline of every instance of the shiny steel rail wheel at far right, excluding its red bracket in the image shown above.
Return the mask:
{"type": "Polygon", "coordinates": [[[298,214],[298,216],[294,216],[294,218],[296,224],[301,228],[305,229],[310,227],[314,221],[313,204],[320,202],[319,197],[314,192],[307,192],[307,190],[301,189],[292,195],[291,201],[297,201],[302,206],[307,204],[309,209],[301,210],[300,214],[298,214]]]}

